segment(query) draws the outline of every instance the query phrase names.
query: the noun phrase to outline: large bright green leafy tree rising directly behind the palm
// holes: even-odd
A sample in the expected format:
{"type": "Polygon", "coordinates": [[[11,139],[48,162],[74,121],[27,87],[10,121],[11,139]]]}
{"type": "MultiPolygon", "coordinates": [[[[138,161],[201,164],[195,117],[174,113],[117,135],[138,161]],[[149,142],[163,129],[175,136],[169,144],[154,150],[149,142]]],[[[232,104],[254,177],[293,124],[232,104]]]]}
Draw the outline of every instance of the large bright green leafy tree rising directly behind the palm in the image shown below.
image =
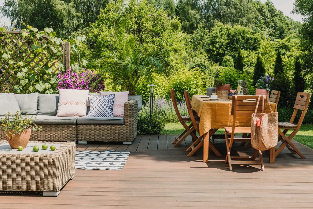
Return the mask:
{"type": "Polygon", "coordinates": [[[90,43],[90,67],[101,53],[117,44],[115,32],[121,19],[128,19],[125,26],[127,34],[133,35],[137,44],[145,52],[151,52],[164,62],[163,72],[170,75],[182,67],[186,67],[189,60],[186,48],[187,35],[182,33],[179,20],[170,18],[162,9],[157,10],[146,0],[130,0],[110,2],[101,11],[98,20],[90,24],[87,31],[90,43]]]}

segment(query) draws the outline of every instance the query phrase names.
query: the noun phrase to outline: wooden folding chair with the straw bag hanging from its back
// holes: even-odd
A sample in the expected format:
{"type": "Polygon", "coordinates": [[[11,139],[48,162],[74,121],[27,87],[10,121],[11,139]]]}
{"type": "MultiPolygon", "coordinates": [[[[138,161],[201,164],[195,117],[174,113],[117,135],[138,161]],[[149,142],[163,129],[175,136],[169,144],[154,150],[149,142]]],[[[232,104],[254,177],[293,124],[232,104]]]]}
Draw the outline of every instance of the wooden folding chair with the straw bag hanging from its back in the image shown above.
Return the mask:
{"type": "MultiPolygon", "coordinates": [[[[254,113],[257,106],[259,96],[233,96],[232,101],[232,111],[233,115],[233,126],[225,127],[225,138],[226,138],[226,149],[227,155],[225,163],[228,163],[229,170],[232,170],[232,164],[237,165],[261,165],[261,170],[264,170],[264,163],[262,152],[260,150],[254,150],[253,156],[231,156],[230,151],[233,146],[233,142],[251,142],[251,128],[250,127],[236,127],[236,117],[237,116],[247,116],[251,118],[252,113],[254,113]],[[255,101],[248,101],[247,99],[255,99],[255,101]],[[235,138],[235,133],[248,134],[247,138],[235,138]],[[230,134],[230,138],[228,138],[230,134]],[[259,154],[260,160],[255,160],[257,154],[259,154]]],[[[266,112],[266,97],[261,97],[261,102],[258,104],[257,112],[266,112]],[[262,103],[264,108],[262,109],[262,103]]],[[[240,124],[239,124],[240,125],[240,124]]]]}

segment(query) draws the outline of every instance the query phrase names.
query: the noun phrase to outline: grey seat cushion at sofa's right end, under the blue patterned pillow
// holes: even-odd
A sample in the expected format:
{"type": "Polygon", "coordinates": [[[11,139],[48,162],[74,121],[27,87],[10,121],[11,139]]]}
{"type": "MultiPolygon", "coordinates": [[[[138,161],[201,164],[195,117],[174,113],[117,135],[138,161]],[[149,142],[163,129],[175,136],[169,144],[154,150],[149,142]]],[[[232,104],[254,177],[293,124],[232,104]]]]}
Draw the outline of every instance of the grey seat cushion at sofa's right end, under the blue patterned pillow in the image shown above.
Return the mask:
{"type": "Polygon", "coordinates": [[[106,125],[123,125],[124,118],[96,118],[96,117],[79,117],[77,124],[106,124],[106,125]]]}

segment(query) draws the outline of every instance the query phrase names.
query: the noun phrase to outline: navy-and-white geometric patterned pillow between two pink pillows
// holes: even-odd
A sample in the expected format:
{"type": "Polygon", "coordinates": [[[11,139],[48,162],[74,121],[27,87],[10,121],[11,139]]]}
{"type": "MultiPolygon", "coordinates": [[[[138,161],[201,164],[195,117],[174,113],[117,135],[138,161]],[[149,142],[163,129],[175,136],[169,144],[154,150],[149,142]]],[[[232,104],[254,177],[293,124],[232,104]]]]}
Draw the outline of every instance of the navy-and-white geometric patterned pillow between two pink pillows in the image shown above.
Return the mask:
{"type": "Polygon", "coordinates": [[[88,95],[90,110],[87,117],[113,118],[114,94],[107,96],[88,95]]]}

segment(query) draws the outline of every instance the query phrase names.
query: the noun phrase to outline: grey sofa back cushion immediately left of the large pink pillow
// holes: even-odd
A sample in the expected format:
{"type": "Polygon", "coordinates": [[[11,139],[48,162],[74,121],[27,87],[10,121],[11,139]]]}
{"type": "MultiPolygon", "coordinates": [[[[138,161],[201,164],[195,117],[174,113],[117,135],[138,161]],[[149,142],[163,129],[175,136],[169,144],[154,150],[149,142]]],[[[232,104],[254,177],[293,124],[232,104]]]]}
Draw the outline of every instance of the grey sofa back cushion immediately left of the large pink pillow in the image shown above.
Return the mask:
{"type": "Polygon", "coordinates": [[[38,94],[37,115],[56,115],[58,104],[59,94],[38,94]]]}

